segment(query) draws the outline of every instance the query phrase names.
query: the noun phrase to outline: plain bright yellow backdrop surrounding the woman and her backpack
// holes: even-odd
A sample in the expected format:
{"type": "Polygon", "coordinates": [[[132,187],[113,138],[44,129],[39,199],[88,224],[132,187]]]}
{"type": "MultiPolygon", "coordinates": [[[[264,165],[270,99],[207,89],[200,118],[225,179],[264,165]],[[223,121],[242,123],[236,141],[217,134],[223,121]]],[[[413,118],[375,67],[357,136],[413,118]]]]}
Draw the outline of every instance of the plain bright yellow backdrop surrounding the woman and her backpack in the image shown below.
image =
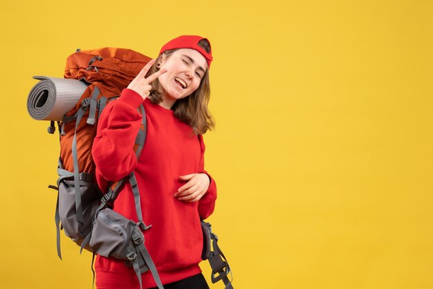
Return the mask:
{"type": "Polygon", "coordinates": [[[59,147],[26,111],[32,76],[62,77],[76,48],[156,57],[198,34],[234,288],[433,288],[432,15],[422,0],[1,0],[0,287],[91,288],[90,254],[63,237],[57,259],[59,147]]]}

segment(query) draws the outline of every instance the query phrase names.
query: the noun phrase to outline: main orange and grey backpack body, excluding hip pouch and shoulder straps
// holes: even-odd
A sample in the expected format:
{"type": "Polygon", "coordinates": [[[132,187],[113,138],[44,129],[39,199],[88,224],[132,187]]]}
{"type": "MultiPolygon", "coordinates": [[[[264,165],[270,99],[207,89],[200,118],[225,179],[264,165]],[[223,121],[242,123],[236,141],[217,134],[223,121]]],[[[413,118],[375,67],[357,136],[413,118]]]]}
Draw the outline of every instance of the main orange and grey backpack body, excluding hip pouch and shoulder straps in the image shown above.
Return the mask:
{"type": "MultiPolygon", "coordinates": [[[[104,196],[94,178],[95,163],[91,156],[99,115],[108,102],[120,96],[122,89],[150,59],[123,48],[79,49],[66,59],[64,77],[82,80],[88,86],[73,109],[58,122],[59,198],[55,220],[60,259],[59,222],[66,236],[82,245],[90,232],[95,209],[104,196]]],[[[53,122],[50,132],[54,132],[53,122]]],[[[89,247],[86,250],[92,251],[89,247]]]]}

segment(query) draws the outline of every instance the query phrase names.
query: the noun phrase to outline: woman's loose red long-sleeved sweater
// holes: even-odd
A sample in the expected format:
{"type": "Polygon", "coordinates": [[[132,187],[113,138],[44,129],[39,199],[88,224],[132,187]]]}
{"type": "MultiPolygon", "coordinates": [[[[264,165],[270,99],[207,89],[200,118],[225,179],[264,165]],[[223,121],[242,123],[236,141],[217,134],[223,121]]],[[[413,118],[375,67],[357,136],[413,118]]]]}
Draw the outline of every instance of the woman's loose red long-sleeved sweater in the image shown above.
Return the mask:
{"type": "MultiPolygon", "coordinates": [[[[152,225],[145,232],[145,245],[154,260],[163,283],[171,283],[201,272],[203,236],[200,218],[214,211],[216,185],[210,178],[208,192],[199,202],[186,203],[174,198],[185,184],[179,176],[206,173],[203,137],[178,120],[173,111],[144,101],[147,138],[137,162],[133,145],[140,129],[141,115],[137,108],[143,103],[135,91],[125,89],[110,102],[98,122],[93,143],[96,178],[103,191],[108,181],[120,180],[135,171],[142,219],[152,225]]],[[[207,174],[207,173],[206,173],[207,174]]],[[[114,203],[114,210],[137,221],[136,209],[127,183],[114,203]]],[[[100,288],[138,288],[133,268],[124,261],[98,256],[95,263],[96,286],[100,288]]],[[[142,274],[143,288],[155,287],[150,272],[142,274]]]]}

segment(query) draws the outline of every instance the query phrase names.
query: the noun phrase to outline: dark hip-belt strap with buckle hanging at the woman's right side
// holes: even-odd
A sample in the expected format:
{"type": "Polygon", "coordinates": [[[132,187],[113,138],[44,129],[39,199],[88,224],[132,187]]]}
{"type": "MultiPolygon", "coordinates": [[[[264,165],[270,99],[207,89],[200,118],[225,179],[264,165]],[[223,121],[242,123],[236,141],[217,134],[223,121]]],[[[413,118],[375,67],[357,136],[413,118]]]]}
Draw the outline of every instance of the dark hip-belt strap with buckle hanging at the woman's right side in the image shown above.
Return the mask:
{"type": "Polygon", "coordinates": [[[206,253],[210,267],[212,268],[212,274],[210,275],[212,283],[223,280],[225,289],[233,289],[232,281],[230,281],[227,277],[228,273],[232,274],[232,272],[230,270],[230,266],[227,263],[227,259],[225,259],[223,252],[218,246],[218,236],[212,233],[210,223],[203,223],[206,227],[208,227],[208,233],[210,239],[212,240],[213,251],[209,248],[209,251],[206,253]]]}

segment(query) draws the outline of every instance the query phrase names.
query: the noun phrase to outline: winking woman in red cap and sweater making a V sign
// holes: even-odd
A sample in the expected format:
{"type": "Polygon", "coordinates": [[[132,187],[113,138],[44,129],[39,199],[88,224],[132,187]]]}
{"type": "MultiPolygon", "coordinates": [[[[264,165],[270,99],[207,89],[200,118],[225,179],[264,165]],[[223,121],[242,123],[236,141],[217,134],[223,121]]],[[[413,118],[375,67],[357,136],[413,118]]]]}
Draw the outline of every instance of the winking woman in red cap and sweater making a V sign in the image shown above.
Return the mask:
{"type": "MultiPolygon", "coordinates": [[[[202,134],[214,125],[208,112],[212,51],[207,39],[183,35],[169,41],[104,109],[93,144],[96,178],[101,189],[109,181],[135,172],[142,218],[151,228],[145,245],[164,288],[209,288],[201,270],[203,236],[200,220],[214,211],[216,185],[204,170],[202,134]],[[142,116],[147,138],[140,159],[133,146],[142,116]]],[[[137,221],[131,185],[120,192],[113,209],[137,221]]],[[[138,288],[133,268],[125,261],[98,256],[96,286],[138,288]]],[[[156,283],[149,271],[142,287],[156,283]]]]}

